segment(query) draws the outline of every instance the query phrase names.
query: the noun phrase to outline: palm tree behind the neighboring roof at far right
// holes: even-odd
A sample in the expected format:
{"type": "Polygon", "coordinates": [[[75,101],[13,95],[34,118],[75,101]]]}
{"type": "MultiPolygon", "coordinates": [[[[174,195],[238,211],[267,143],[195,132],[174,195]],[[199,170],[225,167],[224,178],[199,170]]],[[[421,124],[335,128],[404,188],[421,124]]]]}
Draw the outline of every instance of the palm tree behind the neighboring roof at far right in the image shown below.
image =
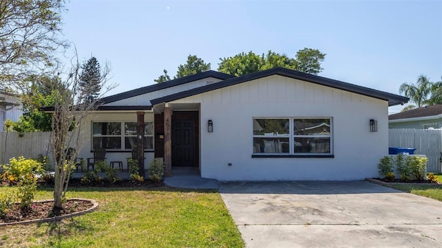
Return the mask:
{"type": "Polygon", "coordinates": [[[421,75],[417,78],[416,84],[403,83],[401,87],[399,87],[399,93],[410,97],[410,101],[415,104],[411,105],[411,108],[422,107],[429,102],[428,96],[430,96],[432,92],[432,85],[434,85],[434,83],[430,82],[427,76],[421,75]]]}

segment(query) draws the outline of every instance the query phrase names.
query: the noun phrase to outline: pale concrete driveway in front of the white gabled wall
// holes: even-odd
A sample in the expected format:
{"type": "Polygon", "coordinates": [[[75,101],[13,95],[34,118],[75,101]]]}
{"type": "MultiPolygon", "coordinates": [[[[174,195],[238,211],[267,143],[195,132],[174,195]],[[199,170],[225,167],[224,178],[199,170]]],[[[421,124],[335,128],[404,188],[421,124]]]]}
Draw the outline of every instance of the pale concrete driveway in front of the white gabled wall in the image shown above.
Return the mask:
{"type": "Polygon", "coordinates": [[[220,183],[247,247],[442,247],[442,202],[365,181],[220,183]]]}

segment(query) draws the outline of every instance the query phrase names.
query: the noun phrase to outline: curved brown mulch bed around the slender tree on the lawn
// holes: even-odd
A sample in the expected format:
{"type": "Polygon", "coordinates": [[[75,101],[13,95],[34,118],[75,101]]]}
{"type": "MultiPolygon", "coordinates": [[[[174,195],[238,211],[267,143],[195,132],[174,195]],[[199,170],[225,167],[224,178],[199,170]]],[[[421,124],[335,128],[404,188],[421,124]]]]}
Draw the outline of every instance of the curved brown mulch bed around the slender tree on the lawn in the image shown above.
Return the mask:
{"type": "Polygon", "coordinates": [[[93,207],[93,203],[90,200],[70,199],[63,203],[63,209],[59,210],[59,213],[52,211],[54,206],[53,200],[45,200],[32,203],[30,209],[22,211],[19,203],[16,203],[12,209],[6,212],[4,218],[0,218],[0,223],[14,223],[24,220],[36,220],[42,218],[51,218],[55,216],[66,216],[68,214],[74,214],[79,211],[85,211],[93,207]]]}

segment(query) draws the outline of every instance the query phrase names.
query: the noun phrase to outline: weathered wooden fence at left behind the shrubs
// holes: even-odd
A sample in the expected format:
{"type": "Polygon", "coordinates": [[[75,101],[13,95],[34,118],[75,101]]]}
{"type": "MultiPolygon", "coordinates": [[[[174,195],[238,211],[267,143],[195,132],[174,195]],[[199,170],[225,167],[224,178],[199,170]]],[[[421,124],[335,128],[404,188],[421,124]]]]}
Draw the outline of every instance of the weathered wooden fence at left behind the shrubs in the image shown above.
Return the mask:
{"type": "Polygon", "coordinates": [[[39,154],[50,155],[48,151],[50,132],[0,132],[0,164],[8,163],[12,157],[37,158],[39,154]],[[22,135],[22,136],[20,136],[22,135]],[[5,149],[6,147],[6,149],[5,149]]]}

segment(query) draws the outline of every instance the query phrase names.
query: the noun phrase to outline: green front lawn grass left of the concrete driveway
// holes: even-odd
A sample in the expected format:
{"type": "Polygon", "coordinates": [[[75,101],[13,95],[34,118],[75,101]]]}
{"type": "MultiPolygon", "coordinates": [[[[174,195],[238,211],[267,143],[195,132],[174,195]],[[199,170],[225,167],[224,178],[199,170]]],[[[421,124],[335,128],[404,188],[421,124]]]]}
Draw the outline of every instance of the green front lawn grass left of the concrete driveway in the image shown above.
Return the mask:
{"type": "MultiPolygon", "coordinates": [[[[216,191],[86,187],[70,189],[73,197],[99,208],[58,223],[0,227],[0,247],[244,247],[216,191]]],[[[36,200],[51,198],[52,189],[38,190],[36,200]]]]}

